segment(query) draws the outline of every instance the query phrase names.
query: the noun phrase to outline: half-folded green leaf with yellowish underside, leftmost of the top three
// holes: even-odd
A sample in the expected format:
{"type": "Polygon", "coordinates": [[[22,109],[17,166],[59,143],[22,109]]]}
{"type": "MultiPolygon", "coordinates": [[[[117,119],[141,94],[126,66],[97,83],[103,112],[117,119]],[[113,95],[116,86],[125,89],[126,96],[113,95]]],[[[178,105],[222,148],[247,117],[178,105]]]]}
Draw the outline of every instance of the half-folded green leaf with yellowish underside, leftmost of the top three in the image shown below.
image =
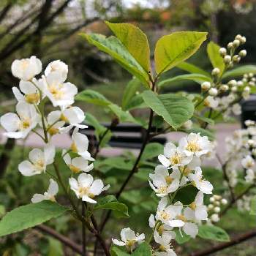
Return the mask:
{"type": "Polygon", "coordinates": [[[148,73],[138,64],[138,61],[129,53],[127,48],[116,37],[105,37],[101,34],[81,34],[91,45],[99,50],[108,53],[127,69],[132,75],[135,75],[145,86],[148,87],[148,73]]]}

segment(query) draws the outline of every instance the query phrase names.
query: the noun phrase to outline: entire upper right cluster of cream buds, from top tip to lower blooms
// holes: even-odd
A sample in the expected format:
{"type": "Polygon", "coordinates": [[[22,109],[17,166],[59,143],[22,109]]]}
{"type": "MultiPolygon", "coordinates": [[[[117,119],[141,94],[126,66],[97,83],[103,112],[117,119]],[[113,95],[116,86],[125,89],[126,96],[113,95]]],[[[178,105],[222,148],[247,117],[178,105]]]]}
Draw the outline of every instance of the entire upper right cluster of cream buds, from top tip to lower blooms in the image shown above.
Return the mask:
{"type": "MultiPolygon", "coordinates": [[[[225,70],[230,69],[234,64],[241,61],[241,58],[246,56],[246,50],[240,50],[238,54],[235,54],[237,48],[245,42],[246,38],[238,34],[233,42],[227,44],[227,49],[219,49],[219,54],[224,59],[225,70]]],[[[223,113],[224,118],[229,118],[232,113],[236,116],[240,115],[240,100],[243,98],[247,99],[252,88],[255,87],[253,74],[245,74],[242,80],[237,81],[233,79],[228,81],[227,84],[222,83],[222,74],[219,68],[214,68],[211,75],[213,77],[213,83],[206,81],[201,84],[201,89],[206,95],[204,105],[223,113]]]]}

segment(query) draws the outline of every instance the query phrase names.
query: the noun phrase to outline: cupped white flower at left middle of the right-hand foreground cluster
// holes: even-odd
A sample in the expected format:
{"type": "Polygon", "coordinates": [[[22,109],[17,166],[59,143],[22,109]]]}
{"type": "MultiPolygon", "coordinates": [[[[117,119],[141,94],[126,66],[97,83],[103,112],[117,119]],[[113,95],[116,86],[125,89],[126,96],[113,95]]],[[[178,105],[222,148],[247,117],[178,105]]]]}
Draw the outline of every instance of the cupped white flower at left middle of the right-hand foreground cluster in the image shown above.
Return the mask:
{"type": "Polygon", "coordinates": [[[166,167],[163,165],[157,165],[155,173],[149,174],[149,177],[152,180],[152,182],[148,181],[151,189],[157,193],[157,196],[165,197],[169,193],[178,189],[181,173],[178,169],[174,169],[173,172],[169,175],[166,167]]]}

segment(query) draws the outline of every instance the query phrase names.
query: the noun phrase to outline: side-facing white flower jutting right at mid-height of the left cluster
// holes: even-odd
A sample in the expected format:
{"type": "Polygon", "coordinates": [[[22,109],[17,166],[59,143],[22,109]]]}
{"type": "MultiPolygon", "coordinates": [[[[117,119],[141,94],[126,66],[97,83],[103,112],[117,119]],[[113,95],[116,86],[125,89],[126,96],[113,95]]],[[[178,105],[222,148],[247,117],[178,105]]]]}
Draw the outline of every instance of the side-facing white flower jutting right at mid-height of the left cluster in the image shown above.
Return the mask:
{"type": "Polygon", "coordinates": [[[62,127],[60,132],[68,132],[72,127],[78,127],[79,129],[85,129],[88,126],[84,124],[80,124],[84,121],[86,116],[78,107],[70,107],[64,110],[56,110],[54,111],[56,116],[59,116],[61,121],[64,121],[66,124],[69,124],[67,127],[62,127]]]}

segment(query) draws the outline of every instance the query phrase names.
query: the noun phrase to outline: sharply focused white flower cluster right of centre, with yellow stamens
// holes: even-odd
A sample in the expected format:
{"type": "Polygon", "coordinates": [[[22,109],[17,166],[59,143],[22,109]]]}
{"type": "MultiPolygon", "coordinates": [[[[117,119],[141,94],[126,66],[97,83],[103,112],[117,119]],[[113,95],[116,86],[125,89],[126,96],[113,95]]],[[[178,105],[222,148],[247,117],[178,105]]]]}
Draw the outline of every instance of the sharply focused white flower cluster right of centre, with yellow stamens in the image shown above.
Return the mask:
{"type": "Polygon", "coordinates": [[[154,230],[154,240],[159,247],[154,255],[176,255],[171,240],[175,239],[173,229],[183,230],[195,238],[197,225],[207,221],[207,207],[203,204],[203,194],[211,194],[213,186],[203,179],[201,159],[211,151],[211,143],[206,136],[190,133],[178,142],[178,146],[167,143],[164,154],[159,155],[162,165],[157,165],[150,174],[149,184],[157,197],[161,197],[157,214],[151,214],[149,226],[154,230]],[[199,190],[195,200],[189,205],[176,201],[179,189],[195,186],[199,190]],[[159,252],[160,251],[160,252],[159,252]]]}

